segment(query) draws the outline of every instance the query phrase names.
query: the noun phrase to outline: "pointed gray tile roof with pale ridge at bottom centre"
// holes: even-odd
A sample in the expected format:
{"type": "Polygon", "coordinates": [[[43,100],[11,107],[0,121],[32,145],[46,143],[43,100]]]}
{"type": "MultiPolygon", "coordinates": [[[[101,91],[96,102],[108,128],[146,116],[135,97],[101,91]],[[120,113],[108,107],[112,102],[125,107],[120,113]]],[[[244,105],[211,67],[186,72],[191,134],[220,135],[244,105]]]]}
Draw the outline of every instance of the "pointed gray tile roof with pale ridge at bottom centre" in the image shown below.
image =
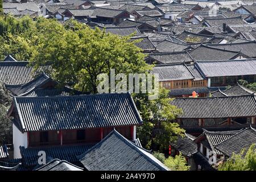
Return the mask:
{"type": "Polygon", "coordinates": [[[113,130],[80,156],[89,171],[167,171],[153,155],[113,130]],[[108,155],[106,155],[108,154],[108,155]]]}

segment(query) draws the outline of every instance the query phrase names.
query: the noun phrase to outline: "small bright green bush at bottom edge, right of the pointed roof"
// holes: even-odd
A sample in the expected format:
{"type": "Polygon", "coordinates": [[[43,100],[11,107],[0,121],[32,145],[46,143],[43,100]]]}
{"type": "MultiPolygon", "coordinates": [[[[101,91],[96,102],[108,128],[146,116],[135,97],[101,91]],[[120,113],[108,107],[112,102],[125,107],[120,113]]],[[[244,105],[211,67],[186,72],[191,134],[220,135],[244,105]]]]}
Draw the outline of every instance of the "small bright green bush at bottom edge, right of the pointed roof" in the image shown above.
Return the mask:
{"type": "Polygon", "coordinates": [[[172,156],[168,157],[164,164],[171,170],[171,171],[188,171],[190,166],[188,166],[185,157],[180,153],[176,155],[174,158],[172,156]]]}

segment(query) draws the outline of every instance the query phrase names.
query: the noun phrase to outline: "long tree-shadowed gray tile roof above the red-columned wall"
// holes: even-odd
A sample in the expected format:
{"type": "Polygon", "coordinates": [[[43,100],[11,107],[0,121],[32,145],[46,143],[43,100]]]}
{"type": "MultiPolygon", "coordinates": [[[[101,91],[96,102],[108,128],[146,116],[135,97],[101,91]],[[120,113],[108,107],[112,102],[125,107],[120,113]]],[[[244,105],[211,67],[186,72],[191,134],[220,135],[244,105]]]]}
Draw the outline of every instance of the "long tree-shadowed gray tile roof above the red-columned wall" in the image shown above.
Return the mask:
{"type": "Polygon", "coordinates": [[[14,97],[14,106],[18,110],[18,122],[23,132],[75,130],[142,123],[129,93],[14,97]]]}

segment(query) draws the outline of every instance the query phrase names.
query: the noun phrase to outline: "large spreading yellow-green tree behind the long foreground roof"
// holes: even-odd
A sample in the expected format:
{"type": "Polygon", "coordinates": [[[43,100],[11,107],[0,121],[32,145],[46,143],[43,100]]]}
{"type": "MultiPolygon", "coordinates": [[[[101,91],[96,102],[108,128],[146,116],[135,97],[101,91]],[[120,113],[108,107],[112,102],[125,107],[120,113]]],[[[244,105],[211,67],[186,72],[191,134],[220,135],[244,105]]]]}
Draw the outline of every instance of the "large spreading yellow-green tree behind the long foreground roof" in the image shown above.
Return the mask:
{"type": "Polygon", "coordinates": [[[115,69],[117,73],[145,73],[151,69],[144,62],[141,49],[130,42],[130,36],[120,37],[105,30],[70,20],[65,27],[53,27],[41,20],[38,45],[32,60],[36,65],[49,63],[55,78],[75,83],[75,88],[97,93],[98,75],[115,69]],[[40,37],[42,36],[42,37],[40,37]]]}

